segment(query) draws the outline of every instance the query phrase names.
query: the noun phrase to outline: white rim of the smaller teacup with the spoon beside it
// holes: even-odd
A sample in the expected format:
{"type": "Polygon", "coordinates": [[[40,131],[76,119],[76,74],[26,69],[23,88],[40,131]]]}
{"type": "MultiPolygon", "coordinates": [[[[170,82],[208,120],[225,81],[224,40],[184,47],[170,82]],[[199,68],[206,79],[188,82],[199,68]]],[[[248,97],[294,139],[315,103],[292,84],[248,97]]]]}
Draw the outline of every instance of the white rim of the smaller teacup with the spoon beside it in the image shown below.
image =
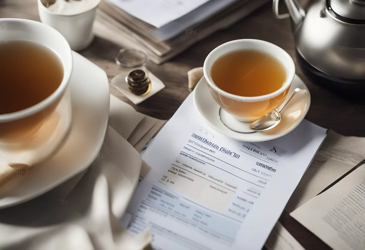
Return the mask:
{"type": "MultiPolygon", "coordinates": [[[[245,49],[245,47],[243,46],[242,50],[244,50],[244,49],[245,49]]],[[[258,50],[260,51],[260,49],[258,49],[258,50]]],[[[227,53],[223,53],[223,54],[227,54],[227,53]]],[[[275,96],[280,95],[291,85],[291,83],[293,82],[294,76],[295,76],[295,64],[294,64],[292,57],[284,49],[280,48],[277,45],[274,45],[273,43],[258,40],[258,39],[238,39],[238,40],[233,40],[233,41],[223,43],[222,45],[219,45],[217,48],[212,50],[208,54],[207,58],[205,58],[204,65],[203,65],[203,72],[204,72],[205,80],[207,81],[208,85],[213,90],[218,92],[218,94],[226,96],[227,98],[235,99],[235,100],[242,101],[242,102],[259,102],[259,101],[265,101],[265,100],[268,100],[275,96]],[[260,95],[260,96],[234,95],[234,94],[230,94],[230,93],[218,88],[211,79],[211,74],[210,74],[211,68],[208,68],[208,63],[210,63],[210,61],[212,60],[212,57],[215,55],[215,53],[220,52],[222,49],[227,48],[227,46],[232,46],[235,43],[241,43],[243,45],[245,43],[256,43],[259,46],[265,46],[265,47],[270,47],[270,48],[275,49],[278,53],[276,53],[274,55],[274,57],[277,57],[281,61],[281,63],[284,64],[284,66],[287,69],[287,78],[286,78],[283,86],[281,86],[277,91],[274,91],[274,92],[272,92],[270,94],[266,94],[266,95],[260,95]]]]}

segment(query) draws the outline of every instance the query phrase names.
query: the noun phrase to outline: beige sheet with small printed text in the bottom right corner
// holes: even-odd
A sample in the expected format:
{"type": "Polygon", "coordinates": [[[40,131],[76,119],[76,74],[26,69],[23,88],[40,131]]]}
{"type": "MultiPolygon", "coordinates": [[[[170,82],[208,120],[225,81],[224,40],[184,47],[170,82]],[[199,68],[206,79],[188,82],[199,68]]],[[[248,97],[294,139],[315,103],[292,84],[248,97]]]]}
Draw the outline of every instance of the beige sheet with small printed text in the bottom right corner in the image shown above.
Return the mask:
{"type": "Polygon", "coordinates": [[[291,216],[334,250],[365,250],[365,165],[291,216]]]}

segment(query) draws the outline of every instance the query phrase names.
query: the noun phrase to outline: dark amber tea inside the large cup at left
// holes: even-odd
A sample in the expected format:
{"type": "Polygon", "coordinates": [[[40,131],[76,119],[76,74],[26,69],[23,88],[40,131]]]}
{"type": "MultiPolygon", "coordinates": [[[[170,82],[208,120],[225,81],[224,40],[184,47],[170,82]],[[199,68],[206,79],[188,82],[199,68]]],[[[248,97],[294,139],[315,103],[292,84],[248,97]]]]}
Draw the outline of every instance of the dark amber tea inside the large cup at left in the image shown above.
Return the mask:
{"type": "Polygon", "coordinates": [[[30,41],[0,42],[0,115],[31,107],[61,84],[64,68],[50,48],[30,41]]]}

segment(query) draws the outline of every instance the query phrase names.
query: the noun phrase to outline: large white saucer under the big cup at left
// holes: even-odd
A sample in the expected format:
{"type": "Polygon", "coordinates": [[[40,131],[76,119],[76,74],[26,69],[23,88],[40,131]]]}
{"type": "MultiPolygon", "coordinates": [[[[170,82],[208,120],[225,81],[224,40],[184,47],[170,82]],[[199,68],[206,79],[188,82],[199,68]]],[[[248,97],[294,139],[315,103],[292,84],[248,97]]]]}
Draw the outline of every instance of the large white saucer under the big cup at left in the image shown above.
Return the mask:
{"type": "MultiPolygon", "coordinates": [[[[60,185],[86,170],[99,155],[109,116],[105,71],[76,52],[70,79],[72,124],[63,147],[51,159],[15,176],[0,189],[0,208],[10,207],[60,185]]],[[[64,197],[55,197],[56,200],[64,197]]]]}

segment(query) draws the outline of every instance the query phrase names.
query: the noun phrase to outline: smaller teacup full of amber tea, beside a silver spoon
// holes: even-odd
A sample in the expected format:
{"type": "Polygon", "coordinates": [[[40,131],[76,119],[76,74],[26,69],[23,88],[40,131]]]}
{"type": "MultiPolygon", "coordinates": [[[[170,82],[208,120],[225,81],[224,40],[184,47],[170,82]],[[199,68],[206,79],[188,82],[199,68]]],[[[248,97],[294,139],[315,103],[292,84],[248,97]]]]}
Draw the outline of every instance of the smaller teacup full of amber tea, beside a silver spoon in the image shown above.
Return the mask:
{"type": "Polygon", "coordinates": [[[295,65],[285,50],[272,43],[240,39],[212,50],[203,71],[219,106],[239,121],[252,122],[284,102],[295,65]]]}

